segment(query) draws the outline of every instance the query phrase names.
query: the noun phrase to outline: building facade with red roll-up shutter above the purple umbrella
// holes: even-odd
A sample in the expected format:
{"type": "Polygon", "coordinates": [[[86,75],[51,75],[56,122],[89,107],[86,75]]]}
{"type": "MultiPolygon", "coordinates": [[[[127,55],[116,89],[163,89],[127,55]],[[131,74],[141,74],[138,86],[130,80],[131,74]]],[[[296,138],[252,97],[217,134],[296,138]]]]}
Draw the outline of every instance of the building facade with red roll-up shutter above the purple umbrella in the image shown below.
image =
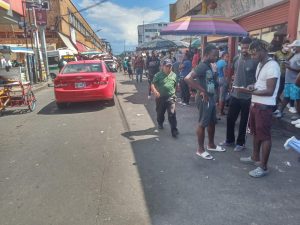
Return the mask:
{"type": "MultiPolygon", "coordinates": [[[[204,0],[178,0],[170,5],[170,20],[201,14],[204,0]]],[[[271,42],[274,35],[299,37],[299,0],[206,0],[207,14],[234,19],[250,36],[271,42]],[[210,7],[214,3],[214,7],[210,7]]]]}

